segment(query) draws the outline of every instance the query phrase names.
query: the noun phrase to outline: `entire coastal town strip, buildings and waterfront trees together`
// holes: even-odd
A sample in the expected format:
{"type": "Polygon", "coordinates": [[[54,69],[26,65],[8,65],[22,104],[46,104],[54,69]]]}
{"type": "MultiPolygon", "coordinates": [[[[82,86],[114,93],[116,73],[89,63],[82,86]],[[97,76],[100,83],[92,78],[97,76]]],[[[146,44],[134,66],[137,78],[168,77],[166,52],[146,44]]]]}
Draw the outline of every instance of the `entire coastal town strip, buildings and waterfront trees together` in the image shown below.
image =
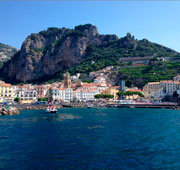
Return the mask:
{"type": "MultiPolygon", "coordinates": [[[[180,95],[180,75],[173,80],[160,82],[148,82],[142,89],[138,87],[126,87],[126,80],[120,80],[118,86],[112,86],[106,81],[106,72],[113,66],[96,72],[91,72],[93,81],[82,82],[81,74],[70,75],[64,73],[62,82],[52,84],[21,84],[11,85],[0,81],[1,104],[68,104],[68,103],[96,103],[100,106],[104,103],[157,104],[177,102],[180,95]]],[[[103,105],[102,105],[103,106],[103,105]]]]}

